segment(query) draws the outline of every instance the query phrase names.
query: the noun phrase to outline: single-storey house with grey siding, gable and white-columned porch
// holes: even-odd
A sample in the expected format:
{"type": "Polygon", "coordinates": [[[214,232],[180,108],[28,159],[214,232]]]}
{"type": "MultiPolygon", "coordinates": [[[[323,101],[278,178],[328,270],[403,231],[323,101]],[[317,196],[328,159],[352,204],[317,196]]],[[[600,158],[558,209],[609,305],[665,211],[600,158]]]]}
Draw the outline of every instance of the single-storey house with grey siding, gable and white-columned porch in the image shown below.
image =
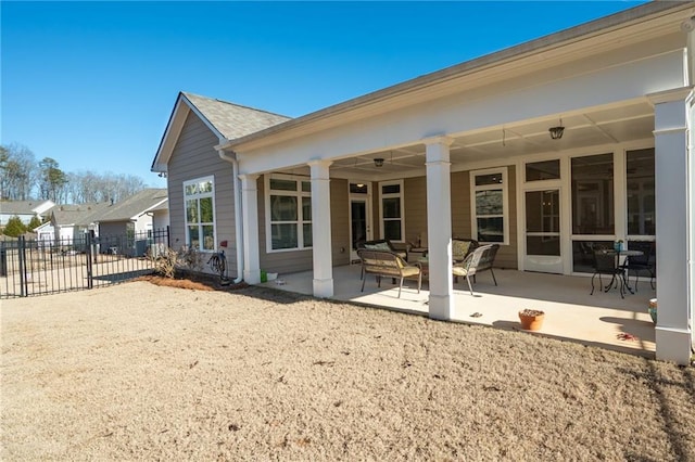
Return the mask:
{"type": "Polygon", "coordinates": [[[181,93],[152,164],[172,244],[232,243],[249,283],[313,269],[330,297],[358,239],[427,236],[429,313],[446,320],[452,235],[560,274],[591,272],[596,245],[655,241],[656,355],[685,364],[694,15],[648,2],[295,119],[181,93]]]}

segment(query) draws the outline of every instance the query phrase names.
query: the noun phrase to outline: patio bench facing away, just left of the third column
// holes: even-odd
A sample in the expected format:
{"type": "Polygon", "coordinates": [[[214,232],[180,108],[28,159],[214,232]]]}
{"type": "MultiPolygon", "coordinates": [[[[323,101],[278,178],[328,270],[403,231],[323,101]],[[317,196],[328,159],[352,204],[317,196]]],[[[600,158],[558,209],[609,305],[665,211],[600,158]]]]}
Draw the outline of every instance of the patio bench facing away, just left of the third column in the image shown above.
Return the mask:
{"type": "Polygon", "coordinates": [[[395,278],[399,282],[399,298],[401,298],[401,290],[403,288],[404,279],[417,279],[417,293],[422,287],[422,270],[419,264],[409,265],[399,254],[389,251],[370,251],[361,248],[357,255],[362,260],[362,270],[364,277],[362,279],[362,290],[365,292],[365,282],[367,274],[375,274],[377,278],[377,286],[381,287],[381,278],[395,278]]]}

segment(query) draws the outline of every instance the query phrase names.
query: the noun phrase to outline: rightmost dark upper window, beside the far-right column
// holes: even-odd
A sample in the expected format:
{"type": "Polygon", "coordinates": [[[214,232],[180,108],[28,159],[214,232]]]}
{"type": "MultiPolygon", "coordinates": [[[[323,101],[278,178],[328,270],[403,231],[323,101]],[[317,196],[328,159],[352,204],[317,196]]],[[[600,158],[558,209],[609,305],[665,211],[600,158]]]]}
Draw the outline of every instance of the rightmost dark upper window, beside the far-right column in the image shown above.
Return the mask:
{"type": "Polygon", "coordinates": [[[654,147],[628,151],[628,234],[656,234],[654,147]]]}

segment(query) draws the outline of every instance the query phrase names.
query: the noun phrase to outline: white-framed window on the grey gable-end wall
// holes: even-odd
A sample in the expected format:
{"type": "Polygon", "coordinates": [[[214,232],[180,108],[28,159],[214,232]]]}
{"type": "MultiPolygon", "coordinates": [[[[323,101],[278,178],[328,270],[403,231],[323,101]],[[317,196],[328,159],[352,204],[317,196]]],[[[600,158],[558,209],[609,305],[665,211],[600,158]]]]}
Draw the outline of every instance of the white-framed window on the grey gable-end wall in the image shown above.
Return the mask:
{"type": "Polygon", "coordinates": [[[215,179],[184,182],[186,243],[198,251],[215,249],[215,179]]]}

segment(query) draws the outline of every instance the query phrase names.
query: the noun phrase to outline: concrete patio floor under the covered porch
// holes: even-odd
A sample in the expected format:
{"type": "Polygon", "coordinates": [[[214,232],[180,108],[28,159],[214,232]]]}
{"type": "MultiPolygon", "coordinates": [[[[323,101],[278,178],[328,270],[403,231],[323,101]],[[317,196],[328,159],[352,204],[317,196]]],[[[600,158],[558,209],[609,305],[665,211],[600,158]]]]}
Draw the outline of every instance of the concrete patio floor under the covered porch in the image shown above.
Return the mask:
{"type": "MultiPolygon", "coordinates": [[[[584,345],[654,357],[655,331],[647,312],[649,298],[656,292],[648,280],[640,280],[639,292],[620,298],[617,290],[591,292],[591,278],[567,277],[495,269],[498,286],[489,272],[478,275],[470,295],[464,279],[454,284],[453,322],[484,324],[500,329],[520,330],[518,311],[525,308],[545,311],[541,331],[544,335],[584,345]],[[471,317],[481,313],[481,317],[471,317]],[[628,335],[624,335],[628,334],[628,335]]],[[[261,284],[312,295],[312,271],[279,274],[278,280],[261,284]],[[280,283],[278,283],[280,282],[280,283]]],[[[332,299],[386,308],[413,315],[428,315],[428,284],[417,293],[416,281],[404,281],[401,298],[397,284],[382,279],[377,287],[374,275],[367,277],[365,292],[359,292],[359,265],[333,268],[332,299]]],[[[604,283],[606,283],[604,278],[604,283]]],[[[634,285],[634,278],[630,283],[634,285]]]]}

